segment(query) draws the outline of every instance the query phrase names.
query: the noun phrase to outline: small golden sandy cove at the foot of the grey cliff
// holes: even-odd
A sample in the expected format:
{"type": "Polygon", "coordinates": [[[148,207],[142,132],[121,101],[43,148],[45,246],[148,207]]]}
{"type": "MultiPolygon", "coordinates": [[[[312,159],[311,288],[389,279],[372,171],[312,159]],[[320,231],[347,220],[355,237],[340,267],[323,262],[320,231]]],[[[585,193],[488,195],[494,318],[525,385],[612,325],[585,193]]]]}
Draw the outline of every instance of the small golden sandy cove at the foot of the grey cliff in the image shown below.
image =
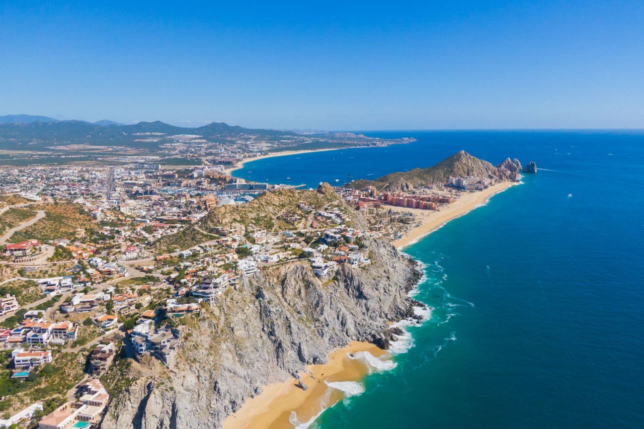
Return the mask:
{"type": "Polygon", "coordinates": [[[328,357],[323,365],[308,365],[300,374],[307,390],[298,388],[296,379],[289,378],[284,383],[273,383],[263,387],[260,395],[249,398],[236,413],[223,422],[223,429],[282,429],[292,428],[289,419],[294,411],[299,422],[304,423],[316,417],[325,405],[341,401],[343,392],[327,386],[325,381],[361,381],[368,373],[365,363],[350,359],[349,353],[370,352],[375,357],[386,352],[370,343],[352,341],[339,348],[328,357]]]}

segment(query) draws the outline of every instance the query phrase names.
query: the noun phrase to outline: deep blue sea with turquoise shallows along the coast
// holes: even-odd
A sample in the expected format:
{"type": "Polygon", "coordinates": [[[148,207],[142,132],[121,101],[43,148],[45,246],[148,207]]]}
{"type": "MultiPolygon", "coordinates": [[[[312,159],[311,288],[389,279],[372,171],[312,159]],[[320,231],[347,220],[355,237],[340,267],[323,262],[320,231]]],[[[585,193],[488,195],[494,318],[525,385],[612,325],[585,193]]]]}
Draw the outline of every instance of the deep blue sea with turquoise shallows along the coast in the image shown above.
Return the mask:
{"type": "MultiPolygon", "coordinates": [[[[401,131],[388,148],[269,158],[236,174],[315,186],[465,149],[539,171],[404,249],[435,307],[413,347],[319,428],[644,427],[644,133],[401,131]]],[[[336,182],[332,182],[336,184],[336,182]]]]}

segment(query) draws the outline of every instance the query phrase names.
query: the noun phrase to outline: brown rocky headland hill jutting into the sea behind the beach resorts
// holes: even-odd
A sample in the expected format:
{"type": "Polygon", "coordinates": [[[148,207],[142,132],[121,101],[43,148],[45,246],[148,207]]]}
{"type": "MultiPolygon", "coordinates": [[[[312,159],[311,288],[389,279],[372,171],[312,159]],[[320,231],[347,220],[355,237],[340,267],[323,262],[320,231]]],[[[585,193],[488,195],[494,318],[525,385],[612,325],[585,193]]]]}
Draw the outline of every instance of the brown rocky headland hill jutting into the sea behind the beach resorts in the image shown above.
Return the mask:
{"type": "Polygon", "coordinates": [[[354,189],[375,186],[377,189],[406,190],[429,184],[445,183],[450,176],[488,177],[504,182],[518,180],[520,171],[521,164],[516,159],[506,158],[497,166],[493,166],[488,161],[469,155],[466,151],[459,151],[432,167],[390,173],[375,180],[354,180],[345,186],[354,189]]]}

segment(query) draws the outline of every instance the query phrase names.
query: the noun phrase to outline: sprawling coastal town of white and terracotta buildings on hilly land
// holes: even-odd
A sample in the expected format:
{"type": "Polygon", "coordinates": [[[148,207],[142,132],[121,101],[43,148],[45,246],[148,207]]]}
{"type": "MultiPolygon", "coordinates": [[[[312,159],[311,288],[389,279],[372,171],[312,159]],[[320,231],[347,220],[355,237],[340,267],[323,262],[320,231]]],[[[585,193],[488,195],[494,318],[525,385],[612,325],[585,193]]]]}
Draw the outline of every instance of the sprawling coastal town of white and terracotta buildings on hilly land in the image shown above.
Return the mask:
{"type": "Polygon", "coordinates": [[[190,320],[258,272],[307,263],[326,282],[342,265],[368,269],[372,238],[400,238],[417,226],[414,210],[493,184],[467,176],[406,192],[283,194],[293,187],[245,182],[223,164],[5,172],[0,427],[42,429],[100,424],[124,365],[173,368],[190,320]],[[254,204],[265,193],[300,199],[267,214],[254,204]],[[355,227],[357,214],[368,229],[355,227]]]}

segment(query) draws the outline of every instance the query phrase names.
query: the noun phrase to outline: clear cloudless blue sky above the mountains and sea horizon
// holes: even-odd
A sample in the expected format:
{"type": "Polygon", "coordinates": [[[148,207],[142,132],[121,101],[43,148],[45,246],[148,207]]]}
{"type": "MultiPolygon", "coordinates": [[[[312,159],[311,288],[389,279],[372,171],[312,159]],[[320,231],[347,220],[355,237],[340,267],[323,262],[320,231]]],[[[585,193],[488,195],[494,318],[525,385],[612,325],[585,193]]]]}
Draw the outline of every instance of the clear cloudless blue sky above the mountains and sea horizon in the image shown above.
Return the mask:
{"type": "Polygon", "coordinates": [[[644,128],[644,1],[0,1],[0,115],[644,128]]]}

